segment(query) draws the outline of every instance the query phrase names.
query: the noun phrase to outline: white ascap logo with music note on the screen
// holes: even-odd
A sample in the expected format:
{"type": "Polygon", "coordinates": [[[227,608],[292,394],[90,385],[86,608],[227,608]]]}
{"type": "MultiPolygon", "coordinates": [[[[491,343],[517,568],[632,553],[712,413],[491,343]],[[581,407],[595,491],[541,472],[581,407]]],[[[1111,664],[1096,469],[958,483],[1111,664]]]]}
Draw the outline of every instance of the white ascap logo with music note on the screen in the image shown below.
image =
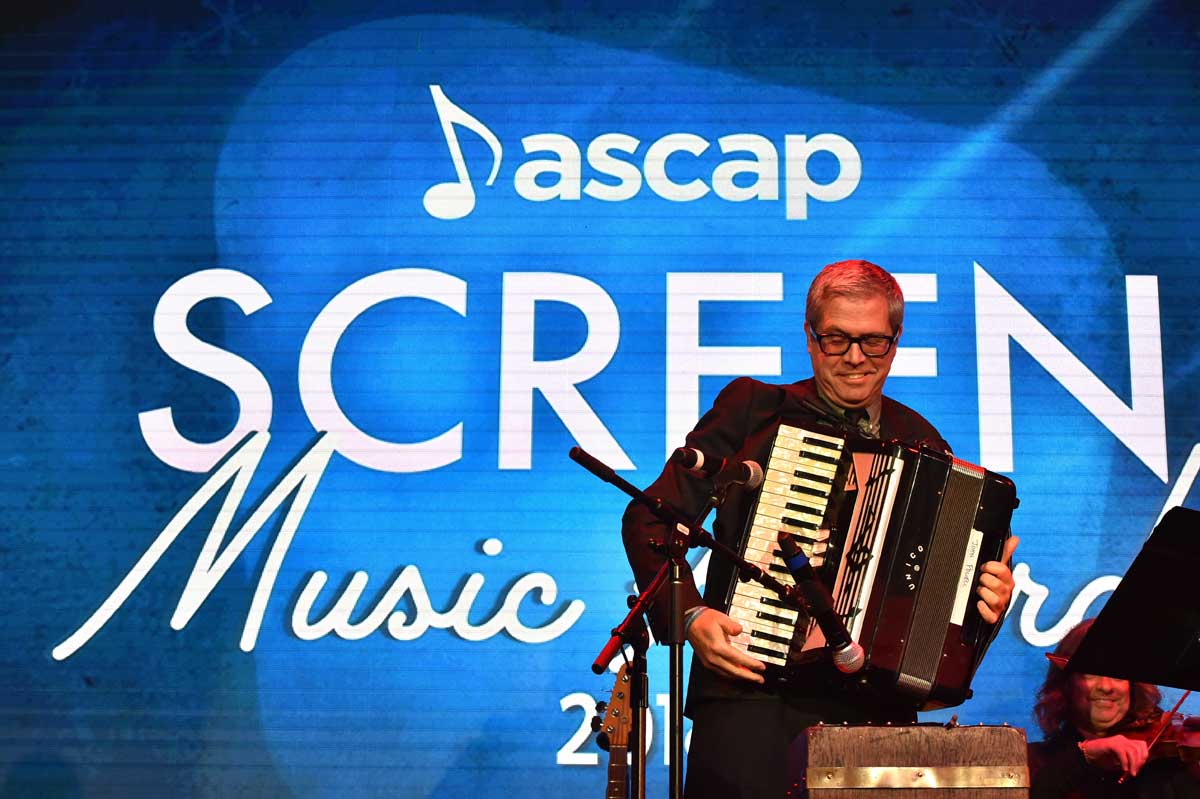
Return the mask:
{"type": "MultiPolygon", "coordinates": [[[[461,220],[475,210],[478,194],[458,143],[458,128],[480,137],[491,150],[492,164],[485,186],[492,186],[500,173],[504,146],[487,125],[446,97],[442,86],[431,85],[430,94],[450,149],[455,180],[431,186],[425,192],[425,210],[439,220],[461,220]]],[[[822,203],[842,200],[853,193],[863,175],[858,150],[836,133],[811,138],[788,133],[784,137],[782,166],[770,139],[757,133],[722,136],[716,140],[721,154],[736,157],[716,164],[707,181],[692,178],[683,182],[667,174],[667,161],[707,152],[713,143],[695,133],[668,133],[652,142],[641,155],[641,139],[628,133],[601,133],[587,145],[590,174],[586,182],[582,150],[569,136],[533,133],[522,138],[521,144],[526,156],[539,157],[517,167],[512,186],[532,203],[581,200],[583,196],[620,203],[637,197],[643,184],[674,203],[691,203],[709,193],[730,203],[779,200],[782,178],[786,218],[806,220],[809,198],[822,203]],[[809,175],[809,160],[821,152],[832,155],[838,163],[836,178],[828,182],[817,182],[809,175]]]]}

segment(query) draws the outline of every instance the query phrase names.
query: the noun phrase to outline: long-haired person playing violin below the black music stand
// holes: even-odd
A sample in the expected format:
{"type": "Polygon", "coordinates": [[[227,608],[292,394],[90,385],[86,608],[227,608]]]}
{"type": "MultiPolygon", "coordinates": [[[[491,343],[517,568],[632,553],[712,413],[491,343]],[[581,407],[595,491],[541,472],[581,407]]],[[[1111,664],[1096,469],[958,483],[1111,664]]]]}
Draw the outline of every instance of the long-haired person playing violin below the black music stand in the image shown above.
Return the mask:
{"type": "MultiPolygon", "coordinates": [[[[1075,654],[1094,619],[1068,632],[1055,655],[1075,654]]],[[[1162,719],[1158,689],[1051,663],[1033,711],[1046,738],[1030,746],[1031,799],[1198,799],[1200,767],[1178,755],[1150,759],[1145,735],[1162,719]],[[1118,782],[1122,774],[1130,776],[1118,782]]],[[[1169,731],[1172,732],[1174,731],[1169,731]]],[[[1200,745],[1200,729],[1175,735],[1200,745]]]]}

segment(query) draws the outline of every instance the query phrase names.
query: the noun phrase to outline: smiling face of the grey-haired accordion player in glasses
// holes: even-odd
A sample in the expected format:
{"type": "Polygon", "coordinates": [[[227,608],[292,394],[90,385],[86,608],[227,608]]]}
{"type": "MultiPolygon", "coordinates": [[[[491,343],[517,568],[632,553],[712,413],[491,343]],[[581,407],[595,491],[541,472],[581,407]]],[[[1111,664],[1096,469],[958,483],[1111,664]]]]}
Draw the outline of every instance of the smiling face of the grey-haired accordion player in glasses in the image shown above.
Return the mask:
{"type": "MultiPolygon", "coordinates": [[[[816,328],[804,323],[805,334],[842,334],[846,336],[892,336],[899,331],[888,322],[888,301],[875,295],[868,299],[835,296],[822,308],[816,328]]],[[[842,408],[866,408],[883,395],[883,382],[892,371],[896,356],[895,346],[887,355],[870,358],[857,343],[841,355],[826,355],[811,335],[809,358],[812,359],[812,376],[826,398],[842,408]]]]}

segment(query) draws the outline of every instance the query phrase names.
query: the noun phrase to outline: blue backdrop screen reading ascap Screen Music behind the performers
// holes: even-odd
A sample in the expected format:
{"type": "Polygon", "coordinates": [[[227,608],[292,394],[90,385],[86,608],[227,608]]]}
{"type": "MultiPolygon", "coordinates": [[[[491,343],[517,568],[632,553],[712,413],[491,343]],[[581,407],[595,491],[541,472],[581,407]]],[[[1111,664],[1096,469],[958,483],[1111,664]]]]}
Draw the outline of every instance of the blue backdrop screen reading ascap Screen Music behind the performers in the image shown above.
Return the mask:
{"type": "Polygon", "coordinates": [[[566,452],[648,483],[808,377],[833,260],[1018,486],[961,721],[1037,738],[1196,503],[1186,4],[185,6],[5,34],[4,795],[599,793],[624,497],[566,452]]]}

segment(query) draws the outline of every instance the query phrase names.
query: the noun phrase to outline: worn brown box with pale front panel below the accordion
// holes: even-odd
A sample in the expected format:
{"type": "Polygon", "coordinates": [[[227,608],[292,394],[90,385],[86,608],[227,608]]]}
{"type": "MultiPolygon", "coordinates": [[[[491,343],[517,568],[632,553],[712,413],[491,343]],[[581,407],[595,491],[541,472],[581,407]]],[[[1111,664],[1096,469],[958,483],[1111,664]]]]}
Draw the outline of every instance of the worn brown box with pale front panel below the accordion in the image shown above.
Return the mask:
{"type": "Polygon", "coordinates": [[[1027,799],[1025,731],[895,725],[809,727],[792,795],[810,799],[1027,799]]]}

